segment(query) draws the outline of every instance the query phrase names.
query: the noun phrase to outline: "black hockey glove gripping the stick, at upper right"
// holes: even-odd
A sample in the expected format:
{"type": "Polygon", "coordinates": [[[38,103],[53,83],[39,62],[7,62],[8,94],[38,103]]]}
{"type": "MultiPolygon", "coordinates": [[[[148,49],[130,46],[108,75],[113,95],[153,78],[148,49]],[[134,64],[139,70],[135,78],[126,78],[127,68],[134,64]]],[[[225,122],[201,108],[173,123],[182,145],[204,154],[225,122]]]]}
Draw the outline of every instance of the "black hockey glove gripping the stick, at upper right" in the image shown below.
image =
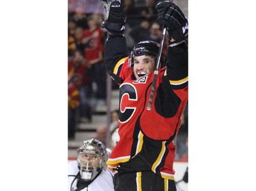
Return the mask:
{"type": "Polygon", "coordinates": [[[167,27],[169,39],[183,41],[188,35],[188,20],[180,8],[169,1],[160,1],[156,4],[158,10],[158,24],[164,24],[167,27]]]}

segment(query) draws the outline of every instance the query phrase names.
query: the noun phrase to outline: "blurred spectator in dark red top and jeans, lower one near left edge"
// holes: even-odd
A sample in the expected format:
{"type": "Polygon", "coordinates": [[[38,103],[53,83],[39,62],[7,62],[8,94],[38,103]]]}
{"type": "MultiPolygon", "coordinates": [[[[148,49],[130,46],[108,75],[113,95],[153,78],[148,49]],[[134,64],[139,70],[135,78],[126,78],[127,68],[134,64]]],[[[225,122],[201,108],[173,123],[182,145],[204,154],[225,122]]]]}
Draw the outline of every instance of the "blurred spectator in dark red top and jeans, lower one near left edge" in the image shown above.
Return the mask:
{"type": "Polygon", "coordinates": [[[76,51],[74,53],[74,59],[69,61],[68,68],[70,78],[76,76],[75,85],[79,88],[79,118],[81,122],[91,122],[91,106],[89,104],[91,97],[91,78],[81,52],[76,51]]]}

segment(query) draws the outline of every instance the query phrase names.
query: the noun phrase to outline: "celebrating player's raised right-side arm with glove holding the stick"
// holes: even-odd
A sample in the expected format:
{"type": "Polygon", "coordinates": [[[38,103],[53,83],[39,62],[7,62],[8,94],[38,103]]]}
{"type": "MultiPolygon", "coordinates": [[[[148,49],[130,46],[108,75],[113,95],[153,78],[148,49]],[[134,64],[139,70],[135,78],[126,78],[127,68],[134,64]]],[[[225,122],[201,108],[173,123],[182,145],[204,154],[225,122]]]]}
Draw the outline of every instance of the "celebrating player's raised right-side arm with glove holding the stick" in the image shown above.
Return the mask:
{"type": "Polygon", "coordinates": [[[167,77],[174,89],[188,86],[188,20],[182,10],[169,1],[156,5],[158,23],[167,27],[169,36],[167,77]]]}

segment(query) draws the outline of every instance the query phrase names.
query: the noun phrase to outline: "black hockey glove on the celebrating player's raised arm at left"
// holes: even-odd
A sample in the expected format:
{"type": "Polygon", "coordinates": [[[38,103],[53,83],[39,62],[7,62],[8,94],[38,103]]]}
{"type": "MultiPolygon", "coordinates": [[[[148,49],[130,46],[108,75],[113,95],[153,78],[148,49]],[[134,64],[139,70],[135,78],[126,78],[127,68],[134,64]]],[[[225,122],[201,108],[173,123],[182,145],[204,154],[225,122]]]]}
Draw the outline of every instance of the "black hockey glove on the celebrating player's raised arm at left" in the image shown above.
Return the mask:
{"type": "Polygon", "coordinates": [[[101,27],[105,28],[111,35],[122,36],[126,26],[126,10],[124,0],[100,0],[106,10],[106,19],[101,27]]]}

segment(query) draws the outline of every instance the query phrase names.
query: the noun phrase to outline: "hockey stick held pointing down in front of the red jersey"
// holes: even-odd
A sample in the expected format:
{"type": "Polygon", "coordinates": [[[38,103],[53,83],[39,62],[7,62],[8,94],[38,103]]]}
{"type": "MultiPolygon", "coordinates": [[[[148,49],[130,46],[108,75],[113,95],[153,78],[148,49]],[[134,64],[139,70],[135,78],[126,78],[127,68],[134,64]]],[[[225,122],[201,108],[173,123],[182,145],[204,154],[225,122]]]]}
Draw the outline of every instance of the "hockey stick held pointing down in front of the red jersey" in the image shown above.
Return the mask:
{"type": "MultiPolygon", "coordinates": [[[[173,0],[170,0],[170,5],[171,5],[172,2],[173,2],[173,0]]],[[[166,14],[166,16],[167,16],[167,18],[170,17],[169,14],[166,14]]],[[[167,18],[165,18],[165,19],[167,20],[167,18]]],[[[150,91],[150,99],[149,99],[148,104],[147,104],[147,110],[151,110],[151,107],[152,107],[152,101],[153,101],[154,92],[155,92],[155,88],[156,88],[156,80],[157,80],[157,77],[158,77],[158,69],[159,69],[159,65],[160,65],[162,47],[164,46],[166,30],[167,30],[166,27],[162,30],[162,39],[160,41],[160,47],[159,47],[159,50],[158,50],[158,57],[157,57],[157,60],[156,60],[156,69],[154,71],[154,79],[153,79],[152,88],[151,88],[151,91],[150,91]]]]}

